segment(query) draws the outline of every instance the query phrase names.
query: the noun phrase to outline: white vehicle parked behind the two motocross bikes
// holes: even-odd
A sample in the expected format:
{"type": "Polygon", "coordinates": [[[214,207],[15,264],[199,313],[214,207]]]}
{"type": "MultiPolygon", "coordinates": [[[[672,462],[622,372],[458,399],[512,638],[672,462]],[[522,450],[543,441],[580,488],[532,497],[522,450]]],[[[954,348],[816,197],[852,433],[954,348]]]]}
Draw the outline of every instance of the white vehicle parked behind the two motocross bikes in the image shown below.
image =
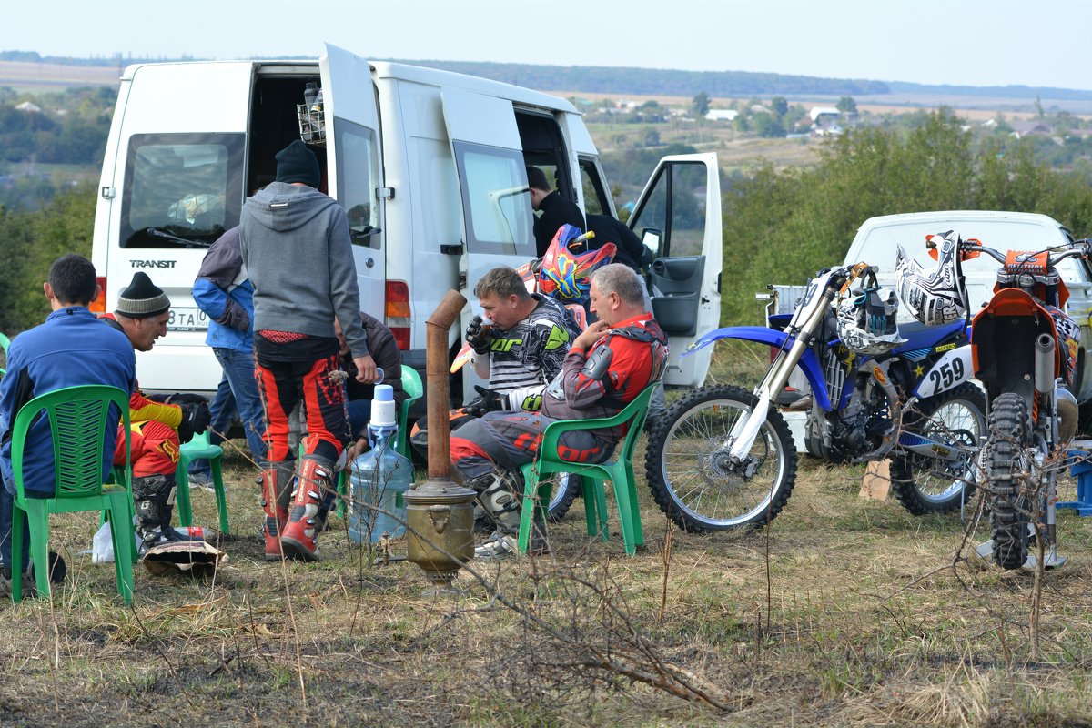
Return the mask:
{"type": "MultiPolygon", "coordinates": [[[[1060,223],[1034,213],[941,211],[870,217],[857,230],[845,254],[845,265],[865,261],[879,266],[879,283],[894,285],[894,259],[898,246],[925,267],[936,265],[925,249],[925,236],[956,230],[963,238],[977,238],[1000,250],[1037,251],[1072,241],[1060,223]]],[[[997,261],[980,255],[963,263],[972,315],[990,299],[997,283],[997,261]]],[[[1076,258],[1064,260],[1058,272],[1069,288],[1066,309],[1081,325],[1078,351],[1077,394],[1081,403],[1092,399],[1092,375],[1088,375],[1088,348],[1092,346],[1089,314],[1092,312],[1092,274],[1088,263],[1076,258]]],[[[909,313],[900,311],[900,317],[909,313]]]]}

